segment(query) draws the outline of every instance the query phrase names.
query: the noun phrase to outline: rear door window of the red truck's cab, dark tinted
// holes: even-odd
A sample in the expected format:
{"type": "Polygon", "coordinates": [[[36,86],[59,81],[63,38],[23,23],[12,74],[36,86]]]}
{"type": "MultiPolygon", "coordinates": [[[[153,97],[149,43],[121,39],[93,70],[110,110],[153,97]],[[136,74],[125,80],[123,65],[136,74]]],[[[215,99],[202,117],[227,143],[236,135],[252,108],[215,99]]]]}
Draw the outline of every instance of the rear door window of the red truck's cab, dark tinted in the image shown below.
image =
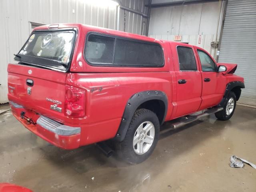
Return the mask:
{"type": "Polygon", "coordinates": [[[192,48],[178,46],[177,47],[180,71],[196,71],[196,58],[192,48]]]}

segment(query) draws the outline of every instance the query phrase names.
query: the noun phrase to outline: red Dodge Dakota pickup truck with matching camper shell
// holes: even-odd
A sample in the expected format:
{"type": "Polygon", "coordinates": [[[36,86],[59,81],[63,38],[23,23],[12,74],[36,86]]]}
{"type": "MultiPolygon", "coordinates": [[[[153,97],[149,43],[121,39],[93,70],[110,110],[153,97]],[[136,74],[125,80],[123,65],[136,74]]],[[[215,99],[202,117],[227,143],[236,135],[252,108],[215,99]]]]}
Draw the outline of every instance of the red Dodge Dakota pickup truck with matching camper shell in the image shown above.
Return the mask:
{"type": "Polygon", "coordinates": [[[200,47],[83,24],[36,27],[14,59],[8,99],[26,128],[64,149],[111,139],[133,164],[165,121],[228,120],[244,88],[200,47]]]}

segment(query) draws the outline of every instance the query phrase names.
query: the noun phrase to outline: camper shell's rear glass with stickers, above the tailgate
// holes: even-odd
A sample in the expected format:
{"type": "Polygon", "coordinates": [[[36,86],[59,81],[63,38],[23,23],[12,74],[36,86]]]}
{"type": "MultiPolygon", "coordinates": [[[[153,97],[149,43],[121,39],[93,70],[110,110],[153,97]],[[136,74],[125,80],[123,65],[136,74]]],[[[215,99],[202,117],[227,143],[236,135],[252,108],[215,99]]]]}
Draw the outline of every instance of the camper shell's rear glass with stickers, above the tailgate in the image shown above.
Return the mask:
{"type": "Polygon", "coordinates": [[[15,60],[37,66],[67,70],[74,44],[74,31],[34,32],[15,60]]]}

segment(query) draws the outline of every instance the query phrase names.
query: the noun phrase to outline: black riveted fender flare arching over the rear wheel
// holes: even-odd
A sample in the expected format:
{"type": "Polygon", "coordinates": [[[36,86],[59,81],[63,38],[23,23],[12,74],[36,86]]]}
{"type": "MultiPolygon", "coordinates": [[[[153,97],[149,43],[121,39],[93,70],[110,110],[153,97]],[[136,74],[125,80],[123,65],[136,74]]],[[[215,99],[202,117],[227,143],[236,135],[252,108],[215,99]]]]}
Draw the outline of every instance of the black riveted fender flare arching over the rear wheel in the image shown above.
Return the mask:
{"type": "Polygon", "coordinates": [[[130,121],[132,120],[132,116],[134,115],[134,112],[142,103],[149,100],[161,100],[164,102],[164,105],[165,105],[164,118],[162,122],[160,122],[160,125],[164,122],[167,109],[168,109],[168,99],[166,94],[158,90],[148,90],[148,91],[138,92],[134,94],[126,103],[124,114],[122,116],[122,121],[120,123],[118,131],[114,138],[115,140],[118,140],[118,141],[124,140],[130,121]]]}

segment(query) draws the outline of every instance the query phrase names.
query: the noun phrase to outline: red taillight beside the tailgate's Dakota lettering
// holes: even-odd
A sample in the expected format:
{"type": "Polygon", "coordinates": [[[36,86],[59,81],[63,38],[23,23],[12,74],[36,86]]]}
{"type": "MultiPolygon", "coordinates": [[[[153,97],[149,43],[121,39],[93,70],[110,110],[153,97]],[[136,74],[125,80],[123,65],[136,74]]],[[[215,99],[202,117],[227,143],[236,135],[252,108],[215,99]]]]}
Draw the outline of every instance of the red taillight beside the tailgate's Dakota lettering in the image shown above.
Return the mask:
{"type": "Polygon", "coordinates": [[[85,91],[66,85],[65,115],[69,117],[85,116],[85,91]]]}

